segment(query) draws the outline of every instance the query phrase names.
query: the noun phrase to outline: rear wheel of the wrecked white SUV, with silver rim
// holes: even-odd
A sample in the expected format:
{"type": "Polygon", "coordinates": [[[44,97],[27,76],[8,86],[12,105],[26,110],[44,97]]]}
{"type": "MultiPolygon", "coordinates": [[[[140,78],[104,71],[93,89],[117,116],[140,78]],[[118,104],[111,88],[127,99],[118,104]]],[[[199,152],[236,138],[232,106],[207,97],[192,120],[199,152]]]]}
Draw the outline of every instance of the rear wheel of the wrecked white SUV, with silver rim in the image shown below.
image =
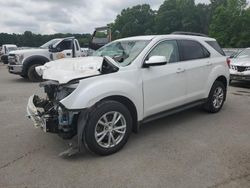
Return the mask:
{"type": "Polygon", "coordinates": [[[215,81],[204,105],[204,109],[210,113],[217,113],[221,110],[226,99],[226,87],[220,81],[215,81]]]}

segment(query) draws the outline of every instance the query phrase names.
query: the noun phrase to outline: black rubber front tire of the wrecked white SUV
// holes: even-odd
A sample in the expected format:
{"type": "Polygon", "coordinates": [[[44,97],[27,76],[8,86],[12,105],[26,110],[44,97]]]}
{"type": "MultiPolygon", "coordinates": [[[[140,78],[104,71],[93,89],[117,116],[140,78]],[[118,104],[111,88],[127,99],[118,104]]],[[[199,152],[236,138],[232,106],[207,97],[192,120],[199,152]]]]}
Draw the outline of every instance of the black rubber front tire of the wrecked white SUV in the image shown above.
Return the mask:
{"type": "MultiPolygon", "coordinates": [[[[129,135],[132,130],[132,117],[128,109],[121,103],[116,101],[101,101],[99,104],[97,104],[95,107],[92,108],[91,112],[89,113],[88,120],[84,129],[84,140],[85,145],[87,145],[87,148],[92,151],[93,153],[96,153],[98,155],[110,155],[117,151],[119,151],[128,141],[129,135]],[[98,144],[97,138],[96,138],[96,127],[100,124],[98,124],[99,120],[102,119],[103,116],[105,116],[108,113],[115,113],[118,112],[118,114],[122,114],[122,120],[125,120],[126,129],[124,130],[123,137],[120,137],[120,141],[117,142],[117,145],[111,146],[109,148],[105,148],[98,144]]],[[[106,116],[107,117],[107,116],[106,116]]],[[[108,118],[108,117],[107,117],[108,118]]],[[[119,118],[118,118],[119,119],[119,118]]],[[[120,118],[121,119],[121,118],[120,118]]],[[[119,120],[119,121],[122,121],[119,120]]],[[[119,123],[119,121],[117,123],[119,123]]],[[[124,122],[124,121],[123,121],[124,122]]],[[[105,129],[102,130],[105,131],[105,129]]],[[[106,130],[111,131],[111,130],[106,130]]],[[[105,133],[105,137],[102,140],[109,139],[111,132],[105,133]]],[[[112,137],[115,138],[115,131],[112,131],[112,137]]],[[[119,137],[117,136],[116,139],[119,137]]],[[[113,140],[114,141],[114,140],[113,140]]],[[[113,142],[114,143],[114,142],[113,142]]]]}

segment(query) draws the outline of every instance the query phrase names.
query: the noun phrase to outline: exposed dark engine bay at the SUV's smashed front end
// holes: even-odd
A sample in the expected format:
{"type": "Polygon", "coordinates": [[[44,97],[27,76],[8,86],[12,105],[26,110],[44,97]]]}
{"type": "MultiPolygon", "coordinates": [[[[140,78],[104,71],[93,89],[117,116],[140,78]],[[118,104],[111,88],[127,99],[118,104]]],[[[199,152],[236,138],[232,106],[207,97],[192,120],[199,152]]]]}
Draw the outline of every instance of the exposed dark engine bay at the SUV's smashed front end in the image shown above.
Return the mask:
{"type": "Polygon", "coordinates": [[[40,84],[44,88],[46,98],[37,95],[33,97],[34,106],[39,116],[44,119],[45,132],[58,133],[64,139],[70,139],[76,135],[77,115],[79,112],[71,112],[60,105],[60,100],[73,92],[75,88],[60,86],[55,81],[46,81],[40,84]]]}

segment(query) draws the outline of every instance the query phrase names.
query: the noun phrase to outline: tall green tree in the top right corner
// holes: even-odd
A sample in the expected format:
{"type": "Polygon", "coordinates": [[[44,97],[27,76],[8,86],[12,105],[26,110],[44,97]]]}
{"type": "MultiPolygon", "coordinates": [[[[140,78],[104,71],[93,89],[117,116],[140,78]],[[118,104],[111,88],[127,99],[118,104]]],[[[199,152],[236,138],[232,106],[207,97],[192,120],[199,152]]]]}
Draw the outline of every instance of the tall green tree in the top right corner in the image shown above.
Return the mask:
{"type": "MultiPolygon", "coordinates": [[[[227,0],[218,6],[212,16],[209,34],[223,47],[244,47],[241,37],[249,32],[246,0],[227,0]],[[241,42],[240,42],[241,41],[241,42]]],[[[249,35],[248,35],[249,36],[249,35]]]]}

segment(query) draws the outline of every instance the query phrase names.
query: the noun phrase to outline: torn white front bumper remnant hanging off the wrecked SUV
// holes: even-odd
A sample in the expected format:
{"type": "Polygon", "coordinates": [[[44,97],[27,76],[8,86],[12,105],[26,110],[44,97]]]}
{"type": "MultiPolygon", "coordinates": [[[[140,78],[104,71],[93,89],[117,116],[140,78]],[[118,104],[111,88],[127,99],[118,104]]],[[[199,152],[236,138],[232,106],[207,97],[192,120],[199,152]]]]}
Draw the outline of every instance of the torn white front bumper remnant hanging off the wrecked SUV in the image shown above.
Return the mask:
{"type": "Polygon", "coordinates": [[[27,117],[33,121],[36,128],[41,127],[46,132],[46,120],[40,116],[37,107],[34,104],[34,96],[30,96],[27,104],[27,117]]]}

